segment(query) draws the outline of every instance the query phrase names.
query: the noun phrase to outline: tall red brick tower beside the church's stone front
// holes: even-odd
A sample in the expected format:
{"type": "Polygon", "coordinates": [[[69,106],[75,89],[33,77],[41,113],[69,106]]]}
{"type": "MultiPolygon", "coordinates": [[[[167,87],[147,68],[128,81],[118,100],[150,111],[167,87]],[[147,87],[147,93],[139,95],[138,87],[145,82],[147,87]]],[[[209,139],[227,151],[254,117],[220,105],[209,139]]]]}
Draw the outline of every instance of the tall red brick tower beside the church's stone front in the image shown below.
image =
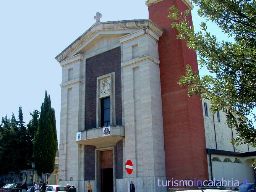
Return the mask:
{"type": "MultiPolygon", "coordinates": [[[[189,98],[177,82],[186,64],[198,71],[196,53],[176,38],[167,18],[170,6],[188,9],[181,0],[163,0],[149,6],[149,19],[164,29],[159,60],[167,179],[208,179],[203,108],[200,97],[189,98]]],[[[189,16],[192,23],[191,15],[189,16]]]]}

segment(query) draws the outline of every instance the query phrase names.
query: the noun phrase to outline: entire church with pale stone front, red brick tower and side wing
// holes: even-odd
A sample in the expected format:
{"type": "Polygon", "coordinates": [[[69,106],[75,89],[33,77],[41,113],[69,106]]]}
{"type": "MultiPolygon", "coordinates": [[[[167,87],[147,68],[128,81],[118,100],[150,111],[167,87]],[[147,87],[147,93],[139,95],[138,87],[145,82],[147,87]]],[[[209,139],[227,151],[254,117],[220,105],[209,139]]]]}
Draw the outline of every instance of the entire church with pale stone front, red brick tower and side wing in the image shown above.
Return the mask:
{"type": "MultiPolygon", "coordinates": [[[[127,192],[133,162],[136,192],[164,192],[157,180],[247,178],[254,148],[233,146],[221,111],[188,97],[177,82],[197,57],[167,18],[188,0],[148,0],[149,19],[96,23],[56,60],[62,66],[59,184],[78,192],[127,192]]],[[[191,15],[189,16],[192,23],[191,15]]]]}

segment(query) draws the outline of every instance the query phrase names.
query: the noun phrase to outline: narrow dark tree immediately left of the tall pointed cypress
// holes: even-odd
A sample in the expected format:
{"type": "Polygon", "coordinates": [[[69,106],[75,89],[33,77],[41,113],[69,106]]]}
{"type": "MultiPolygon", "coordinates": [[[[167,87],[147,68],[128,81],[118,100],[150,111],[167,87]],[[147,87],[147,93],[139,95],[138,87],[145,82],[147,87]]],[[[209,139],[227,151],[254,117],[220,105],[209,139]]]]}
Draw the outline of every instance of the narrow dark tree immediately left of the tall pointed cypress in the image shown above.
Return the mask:
{"type": "Polygon", "coordinates": [[[36,135],[37,128],[38,128],[39,111],[37,111],[35,109],[33,111],[33,113],[30,113],[30,115],[32,116],[32,119],[27,124],[27,136],[28,136],[27,159],[28,159],[28,163],[31,165],[34,162],[34,157],[33,157],[33,140],[34,140],[34,136],[36,135]]]}

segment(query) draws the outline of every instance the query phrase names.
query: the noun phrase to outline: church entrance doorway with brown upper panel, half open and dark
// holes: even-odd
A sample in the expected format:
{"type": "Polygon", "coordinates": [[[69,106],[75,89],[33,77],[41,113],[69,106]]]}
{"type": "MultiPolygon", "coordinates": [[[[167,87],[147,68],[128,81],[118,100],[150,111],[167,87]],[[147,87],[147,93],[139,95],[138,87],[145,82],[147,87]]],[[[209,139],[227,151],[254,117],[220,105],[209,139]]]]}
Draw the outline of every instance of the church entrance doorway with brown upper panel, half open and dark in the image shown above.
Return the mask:
{"type": "Polygon", "coordinates": [[[100,152],[101,192],[113,192],[113,150],[100,152]]]}

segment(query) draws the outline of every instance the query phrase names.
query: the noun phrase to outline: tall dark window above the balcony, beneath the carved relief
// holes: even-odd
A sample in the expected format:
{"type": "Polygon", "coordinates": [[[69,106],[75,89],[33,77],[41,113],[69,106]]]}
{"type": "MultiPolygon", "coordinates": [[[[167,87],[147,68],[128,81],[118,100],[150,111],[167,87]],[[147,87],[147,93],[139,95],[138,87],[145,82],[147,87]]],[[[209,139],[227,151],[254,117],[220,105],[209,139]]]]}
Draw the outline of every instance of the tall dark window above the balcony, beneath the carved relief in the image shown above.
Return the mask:
{"type": "Polygon", "coordinates": [[[110,125],[110,97],[101,99],[101,126],[110,125]]]}

